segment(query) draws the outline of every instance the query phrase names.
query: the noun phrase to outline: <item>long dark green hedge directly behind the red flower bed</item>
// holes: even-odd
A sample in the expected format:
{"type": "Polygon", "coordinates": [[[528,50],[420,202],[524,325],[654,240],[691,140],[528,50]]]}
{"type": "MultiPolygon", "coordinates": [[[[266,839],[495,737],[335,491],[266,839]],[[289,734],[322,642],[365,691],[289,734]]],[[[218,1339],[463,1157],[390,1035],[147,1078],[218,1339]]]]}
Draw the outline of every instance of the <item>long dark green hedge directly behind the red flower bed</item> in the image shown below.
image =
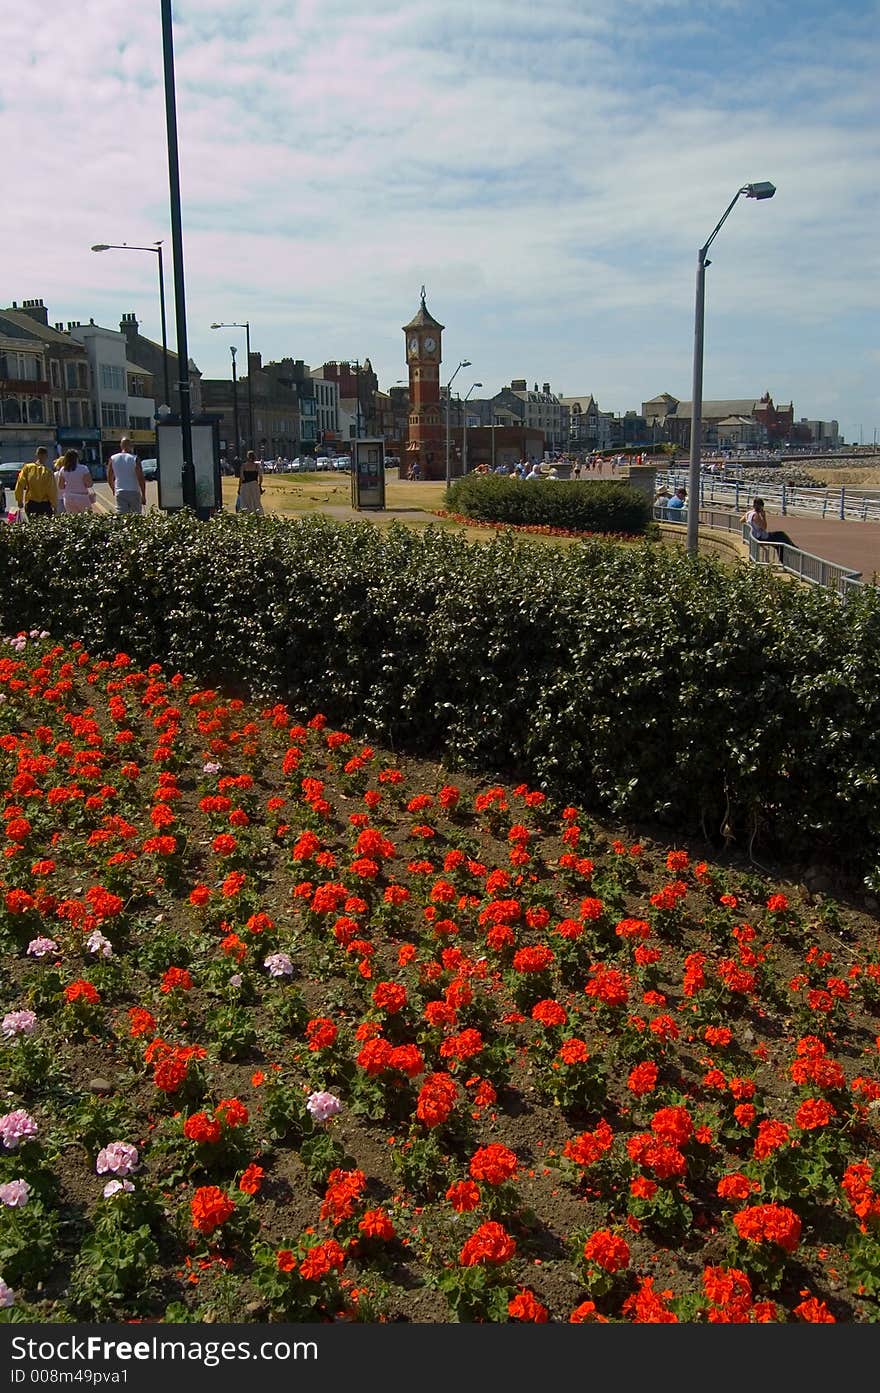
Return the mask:
{"type": "Polygon", "coordinates": [[[597,812],[727,826],[742,844],[757,833],[792,858],[877,859],[867,586],[844,606],[649,545],[82,515],[0,528],[0,607],[6,632],[46,627],[320,709],[597,812]]]}

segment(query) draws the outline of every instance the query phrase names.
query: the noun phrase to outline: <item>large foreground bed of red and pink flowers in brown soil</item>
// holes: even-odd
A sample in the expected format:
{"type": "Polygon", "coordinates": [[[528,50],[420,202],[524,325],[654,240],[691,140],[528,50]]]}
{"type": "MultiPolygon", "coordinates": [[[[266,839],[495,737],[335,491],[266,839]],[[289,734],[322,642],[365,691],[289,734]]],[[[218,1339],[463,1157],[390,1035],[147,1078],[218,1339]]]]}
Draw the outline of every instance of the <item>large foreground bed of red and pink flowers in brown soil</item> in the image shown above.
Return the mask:
{"type": "Polygon", "coordinates": [[[0,1319],[874,1321],[877,922],[39,635],[0,1319]]]}

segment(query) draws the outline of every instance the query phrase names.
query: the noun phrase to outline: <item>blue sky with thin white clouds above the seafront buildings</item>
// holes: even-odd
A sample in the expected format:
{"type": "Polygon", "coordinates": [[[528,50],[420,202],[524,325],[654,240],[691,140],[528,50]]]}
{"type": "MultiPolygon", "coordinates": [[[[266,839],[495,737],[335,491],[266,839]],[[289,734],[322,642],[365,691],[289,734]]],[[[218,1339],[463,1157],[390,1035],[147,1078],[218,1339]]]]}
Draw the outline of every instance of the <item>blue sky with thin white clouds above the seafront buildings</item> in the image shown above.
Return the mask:
{"type": "MultiPolygon", "coordinates": [[[[0,304],[135,312],[175,341],[160,0],[0,6],[0,304]]],[[[880,439],[880,0],[174,0],[189,354],[441,380],[603,411],[794,401],[880,439]]]]}

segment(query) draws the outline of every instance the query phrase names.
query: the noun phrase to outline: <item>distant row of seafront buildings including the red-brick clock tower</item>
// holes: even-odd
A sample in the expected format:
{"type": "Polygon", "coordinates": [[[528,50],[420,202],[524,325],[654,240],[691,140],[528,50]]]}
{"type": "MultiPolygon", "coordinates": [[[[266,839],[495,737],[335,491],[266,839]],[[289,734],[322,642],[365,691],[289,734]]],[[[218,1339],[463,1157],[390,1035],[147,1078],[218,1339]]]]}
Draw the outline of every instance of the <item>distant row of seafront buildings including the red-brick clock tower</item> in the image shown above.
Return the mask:
{"type": "MultiPolygon", "coordinates": [[[[593,396],[568,397],[544,382],[524,378],[493,396],[472,396],[462,386],[448,397],[440,383],[440,325],[422,298],[404,326],[408,380],[380,390],[370,359],[324,362],[311,368],[301,358],[263,362],[251,352],[241,375],[203,378],[189,361],[195,417],[219,422],[221,454],[246,450],[272,458],[343,451],[361,436],[380,437],[387,454],[422,460],[426,476],[440,476],[450,428],[454,472],[485,454],[496,457],[505,442],[511,454],[622,449],[668,443],[688,449],[692,405],[668,393],[642,403],[641,411],[602,411],[593,396]],[[427,432],[427,435],[425,435],[427,432]],[[468,458],[466,439],[471,432],[468,458]],[[422,446],[422,437],[430,447],[422,446]],[[517,449],[518,447],[518,449],[517,449]],[[430,462],[427,456],[430,454],[430,462]]],[[[156,419],[167,405],[180,410],[177,354],[141,333],[132,312],[118,329],[50,323],[42,299],[0,309],[0,462],[29,460],[39,444],[75,446],[100,467],[127,435],[142,456],[156,447],[156,419]]],[[[840,443],[835,421],[794,419],[794,405],[762,397],[703,403],[703,444],[760,447],[840,443]]]]}

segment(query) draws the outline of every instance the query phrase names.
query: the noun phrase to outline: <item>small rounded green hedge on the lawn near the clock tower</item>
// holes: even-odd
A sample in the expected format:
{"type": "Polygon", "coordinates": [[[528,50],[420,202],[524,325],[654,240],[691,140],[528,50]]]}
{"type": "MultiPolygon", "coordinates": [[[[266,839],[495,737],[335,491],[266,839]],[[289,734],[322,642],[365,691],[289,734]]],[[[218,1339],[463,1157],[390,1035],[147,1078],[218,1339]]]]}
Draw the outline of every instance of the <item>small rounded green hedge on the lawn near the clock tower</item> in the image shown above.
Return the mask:
{"type": "Polygon", "coordinates": [[[455,479],[447,489],[446,507],[485,522],[631,536],[642,535],[652,517],[645,495],[622,481],[514,479],[498,474],[455,479]]]}

